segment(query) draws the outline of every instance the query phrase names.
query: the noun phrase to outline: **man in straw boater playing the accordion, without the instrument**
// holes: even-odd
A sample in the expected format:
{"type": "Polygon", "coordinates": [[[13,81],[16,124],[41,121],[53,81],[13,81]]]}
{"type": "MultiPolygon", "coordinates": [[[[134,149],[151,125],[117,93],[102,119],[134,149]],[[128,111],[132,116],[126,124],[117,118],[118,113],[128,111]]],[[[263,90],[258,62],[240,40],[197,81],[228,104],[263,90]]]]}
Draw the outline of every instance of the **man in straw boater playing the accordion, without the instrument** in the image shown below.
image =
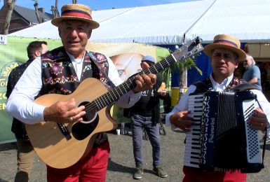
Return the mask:
{"type": "MultiPolygon", "coordinates": [[[[194,118],[189,116],[190,111],[188,111],[189,94],[194,92],[223,92],[245,83],[245,80],[234,77],[234,70],[237,68],[238,63],[246,57],[240,45],[240,41],[234,36],[219,34],[215,36],[213,43],[205,46],[204,52],[211,59],[212,73],[205,80],[189,86],[189,89],[181,97],[173,111],[166,115],[166,125],[171,125],[172,129],[178,127],[184,132],[189,132],[191,125],[194,125],[194,118]]],[[[255,110],[255,113],[250,118],[250,125],[254,130],[265,131],[270,121],[269,102],[260,90],[250,91],[257,94],[257,100],[262,106],[262,109],[257,108],[255,110]]],[[[217,172],[184,166],[183,172],[184,182],[246,181],[246,174],[242,174],[238,170],[217,172]]]]}

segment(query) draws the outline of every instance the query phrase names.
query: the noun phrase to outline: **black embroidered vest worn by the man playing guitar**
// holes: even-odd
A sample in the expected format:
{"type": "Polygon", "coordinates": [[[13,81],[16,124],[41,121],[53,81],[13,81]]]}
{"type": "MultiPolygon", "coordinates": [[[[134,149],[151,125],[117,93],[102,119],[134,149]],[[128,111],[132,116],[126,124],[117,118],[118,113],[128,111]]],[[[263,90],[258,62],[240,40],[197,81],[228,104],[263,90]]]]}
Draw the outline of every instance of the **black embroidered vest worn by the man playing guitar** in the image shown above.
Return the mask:
{"type": "MultiPolygon", "coordinates": [[[[89,52],[89,54],[95,57],[104,73],[108,74],[109,64],[107,58],[97,52],[89,52]]],[[[86,78],[100,79],[100,81],[107,86],[107,78],[98,69],[89,54],[86,52],[84,56],[81,80],[78,79],[72,61],[63,47],[56,48],[41,55],[42,88],[39,92],[39,96],[52,93],[71,94],[76,90],[81,81],[86,78]]],[[[101,144],[104,141],[107,141],[107,134],[100,133],[97,135],[95,144],[101,144]]]]}

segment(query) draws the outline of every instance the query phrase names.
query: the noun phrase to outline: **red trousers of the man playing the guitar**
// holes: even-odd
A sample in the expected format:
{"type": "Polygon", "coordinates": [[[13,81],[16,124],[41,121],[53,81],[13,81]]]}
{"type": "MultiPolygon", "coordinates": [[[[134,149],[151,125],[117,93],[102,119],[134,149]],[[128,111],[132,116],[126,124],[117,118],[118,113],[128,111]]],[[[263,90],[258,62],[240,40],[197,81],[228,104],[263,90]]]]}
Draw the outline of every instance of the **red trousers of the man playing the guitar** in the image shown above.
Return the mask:
{"type": "MultiPolygon", "coordinates": [[[[90,154],[65,169],[55,169],[47,166],[48,182],[83,182],[98,181],[106,179],[109,159],[109,142],[93,147],[90,154]]],[[[67,159],[68,160],[68,159],[67,159]]]]}

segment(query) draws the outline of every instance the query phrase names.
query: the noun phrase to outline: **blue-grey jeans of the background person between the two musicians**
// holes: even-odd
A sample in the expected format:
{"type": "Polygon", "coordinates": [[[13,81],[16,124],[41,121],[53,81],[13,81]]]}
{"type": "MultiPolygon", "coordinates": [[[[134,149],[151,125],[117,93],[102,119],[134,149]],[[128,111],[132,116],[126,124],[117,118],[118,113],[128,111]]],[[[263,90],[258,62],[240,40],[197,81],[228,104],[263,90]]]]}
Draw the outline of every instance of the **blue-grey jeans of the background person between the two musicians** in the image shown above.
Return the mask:
{"type": "Polygon", "coordinates": [[[133,136],[133,155],[136,166],[143,165],[142,158],[142,128],[146,130],[149,141],[152,146],[153,165],[161,163],[161,137],[159,134],[156,122],[152,122],[151,117],[144,117],[137,114],[132,114],[131,130],[133,136]]]}

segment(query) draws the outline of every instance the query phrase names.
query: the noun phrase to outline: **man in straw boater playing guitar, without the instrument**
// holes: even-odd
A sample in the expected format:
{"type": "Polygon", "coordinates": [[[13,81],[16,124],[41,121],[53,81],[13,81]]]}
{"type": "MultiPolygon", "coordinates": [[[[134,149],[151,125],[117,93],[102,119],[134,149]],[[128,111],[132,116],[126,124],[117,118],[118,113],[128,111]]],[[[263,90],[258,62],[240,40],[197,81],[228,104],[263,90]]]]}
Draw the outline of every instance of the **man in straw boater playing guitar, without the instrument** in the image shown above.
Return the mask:
{"type": "MultiPolygon", "coordinates": [[[[80,122],[86,115],[85,106],[76,107],[75,98],[43,106],[34,102],[36,97],[48,93],[71,94],[86,78],[97,78],[108,88],[123,83],[109,57],[86,50],[93,29],[100,26],[92,19],[90,8],[67,4],[61,12],[51,23],[58,27],[63,46],[34,59],[6,103],[7,113],[29,125],[41,121],[80,122]]],[[[143,64],[144,68],[148,66],[143,64]]],[[[151,89],[155,83],[156,75],[152,73],[135,76],[134,88],[120,97],[117,104],[123,108],[133,106],[141,91],[151,89]]],[[[86,92],[91,94],[91,90],[86,92]]],[[[93,139],[90,151],[74,165],[63,169],[47,165],[47,181],[105,181],[110,151],[108,137],[105,132],[99,132],[93,139]]]]}

